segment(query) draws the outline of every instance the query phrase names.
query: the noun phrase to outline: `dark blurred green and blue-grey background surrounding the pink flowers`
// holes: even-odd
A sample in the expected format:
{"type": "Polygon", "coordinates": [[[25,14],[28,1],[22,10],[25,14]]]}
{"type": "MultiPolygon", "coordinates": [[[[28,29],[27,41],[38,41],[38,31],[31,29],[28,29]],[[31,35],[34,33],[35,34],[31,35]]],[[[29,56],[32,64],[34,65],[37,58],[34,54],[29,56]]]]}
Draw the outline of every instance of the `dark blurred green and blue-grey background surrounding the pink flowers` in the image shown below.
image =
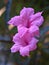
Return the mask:
{"type": "Polygon", "coordinates": [[[49,65],[49,0],[0,0],[0,65],[49,65]],[[12,54],[14,27],[8,30],[8,20],[19,15],[23,7],[32,7],[35,12],[43,11],[44,24],[40,27],[38,47],[30,52],[30,57],[12,54]]]}

